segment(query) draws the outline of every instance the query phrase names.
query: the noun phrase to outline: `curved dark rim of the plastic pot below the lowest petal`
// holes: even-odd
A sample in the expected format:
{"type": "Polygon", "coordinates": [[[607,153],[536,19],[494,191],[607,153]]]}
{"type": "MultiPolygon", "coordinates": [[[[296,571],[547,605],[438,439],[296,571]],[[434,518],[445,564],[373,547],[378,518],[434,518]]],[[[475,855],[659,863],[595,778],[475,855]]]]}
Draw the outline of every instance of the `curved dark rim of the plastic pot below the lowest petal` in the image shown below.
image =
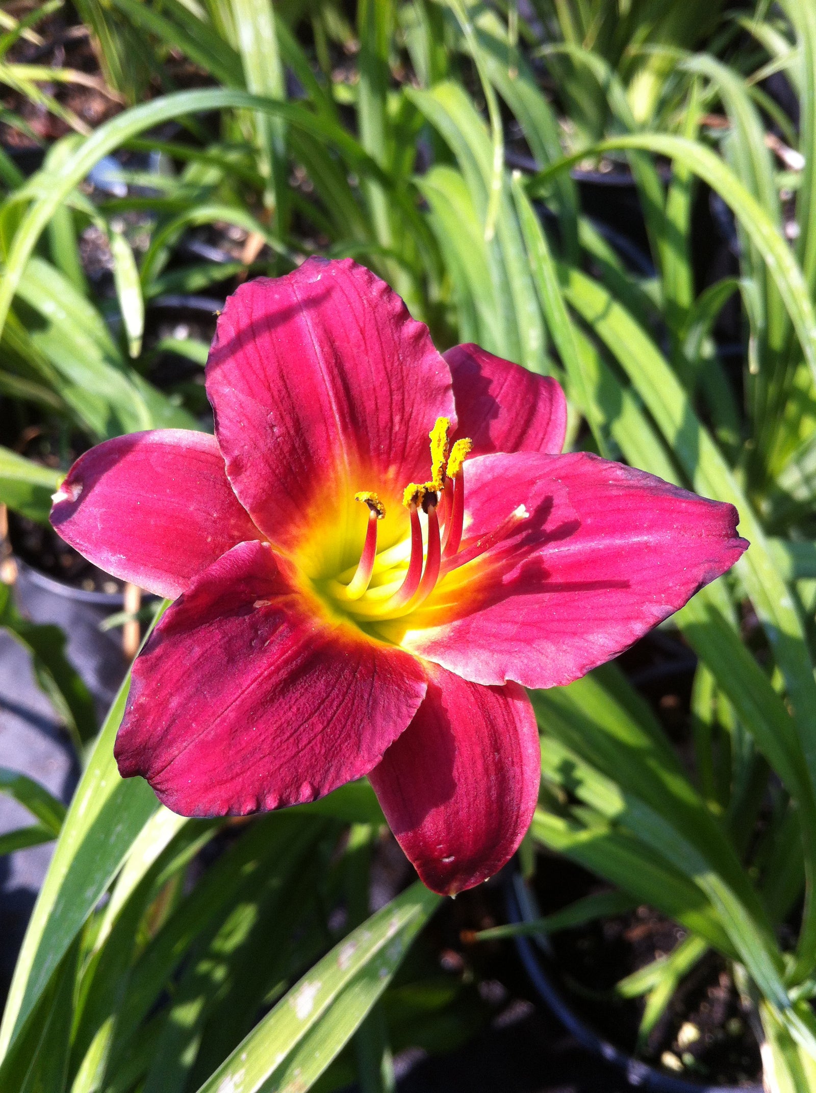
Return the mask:
{"type": "MultiPolygon", "coordinates": [[[[540,917],[532,906],[530,893],[518,870],[510,872],[505,882],[505,905],[510,922],[530,922],[540,917]]],[[[586,1050],[622,1070],[631,1086],[650,1090],[653,1093],[764,1093],[761,1085],[701,1085],[683,1078],[672,1078],[671,1074],[655,1070],[622,1051],[584,1024],[561,997],[536,952],[536,950],[542,953],[548,951],[549,942],[546,936],[537,933],[532,938],[513,938],[513,941],[524,971],[544,1004],[586,1050]],[[533,941],[536,941],[537,945],[534,945],[533,941]]]]}

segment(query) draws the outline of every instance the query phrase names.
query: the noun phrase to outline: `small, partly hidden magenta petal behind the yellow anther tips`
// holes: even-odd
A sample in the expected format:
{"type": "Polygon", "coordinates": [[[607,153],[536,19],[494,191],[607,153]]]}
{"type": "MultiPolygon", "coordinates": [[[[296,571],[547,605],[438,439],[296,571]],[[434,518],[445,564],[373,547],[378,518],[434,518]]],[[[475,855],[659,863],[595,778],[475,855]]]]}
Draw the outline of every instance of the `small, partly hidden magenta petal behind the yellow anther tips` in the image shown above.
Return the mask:
{"type": "Polygon", "coordinates": [[[567,400],[555,379],[536,376],[480,345],[454,345],[445,360],[453,377],[458,435],[473,440],[474,455],[560,453],[567,400]]]}

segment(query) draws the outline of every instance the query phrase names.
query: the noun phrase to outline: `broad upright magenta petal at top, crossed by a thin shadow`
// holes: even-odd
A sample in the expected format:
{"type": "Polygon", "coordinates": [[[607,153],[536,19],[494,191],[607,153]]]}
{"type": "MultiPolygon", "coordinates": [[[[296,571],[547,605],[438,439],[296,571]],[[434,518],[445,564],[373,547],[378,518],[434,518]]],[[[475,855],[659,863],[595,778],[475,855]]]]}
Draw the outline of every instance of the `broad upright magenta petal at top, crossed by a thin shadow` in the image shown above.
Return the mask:
{"type": "Polygon", "coordinates": [[[206,389],[235,492],[286,549],[357,490],[399,506],[430,473],[436,419],[456,424],[427,327],[351,259],[241,285],[218,319],[206,389]]]}

